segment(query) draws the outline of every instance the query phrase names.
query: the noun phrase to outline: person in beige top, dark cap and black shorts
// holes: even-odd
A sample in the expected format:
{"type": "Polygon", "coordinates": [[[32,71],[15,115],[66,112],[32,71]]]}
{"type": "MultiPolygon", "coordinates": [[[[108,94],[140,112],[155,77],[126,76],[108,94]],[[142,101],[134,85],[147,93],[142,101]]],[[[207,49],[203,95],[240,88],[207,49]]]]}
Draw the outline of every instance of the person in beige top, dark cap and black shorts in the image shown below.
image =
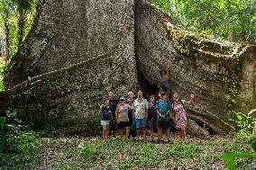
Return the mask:
{"type": "Polygon", "coordinates": [[[128,135],[130,132],[128,110],[132,109],[132,107],[129,104],[126,104],[124,102],[125,102],[125,98],[122,96],[120,98],[120,103],[116,107],[115,120],[118,123],[118,129],[121,131],[121,137],[123,139],[128,139],[128,135]],[[123,136],[123,129],[125,129],[126,131],[125,136],[123,136]]]}

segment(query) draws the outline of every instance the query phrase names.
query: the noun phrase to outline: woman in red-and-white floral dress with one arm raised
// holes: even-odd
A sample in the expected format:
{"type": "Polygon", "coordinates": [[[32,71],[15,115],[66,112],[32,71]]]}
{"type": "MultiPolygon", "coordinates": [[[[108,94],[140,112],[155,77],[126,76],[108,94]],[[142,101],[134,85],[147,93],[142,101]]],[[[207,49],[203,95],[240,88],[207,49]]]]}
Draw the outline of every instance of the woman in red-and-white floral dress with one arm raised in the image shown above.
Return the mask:
{"type": "Polygon", "coordinates": [[[171,104],[172,117],[174,118],[175,125],[178,128],[179,139],[185,141],[186,139],[186,126],[187,126],[187,113],[185,105],[189,105],[194,102],[195,96],[191,94],[190,101],[179,100],[178,94],[173,94],[174,103],[171,104]]]}

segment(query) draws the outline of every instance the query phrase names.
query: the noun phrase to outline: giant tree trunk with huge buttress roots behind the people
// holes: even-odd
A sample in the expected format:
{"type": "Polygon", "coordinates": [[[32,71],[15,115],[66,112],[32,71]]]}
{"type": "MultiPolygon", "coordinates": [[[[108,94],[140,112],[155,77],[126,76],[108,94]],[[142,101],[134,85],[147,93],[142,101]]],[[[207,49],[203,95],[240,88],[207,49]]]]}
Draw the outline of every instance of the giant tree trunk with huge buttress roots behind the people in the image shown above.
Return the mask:
{"type": "Polygon", "coordinates": [[[196,92],[187,108],[190,134],[232,130],[232,110],[256,107],[255,46],[181,30],[147,1],[134,2],[45,0],[5,74],[10,90],[0,95],[1,112],[12,108],[37,128],[92,132],[108,90],[157,94],[160,69],[167,68],[172,93],[188,99],[196,92]],[[31,81],[26,70],[34,70],[31,81]]]}

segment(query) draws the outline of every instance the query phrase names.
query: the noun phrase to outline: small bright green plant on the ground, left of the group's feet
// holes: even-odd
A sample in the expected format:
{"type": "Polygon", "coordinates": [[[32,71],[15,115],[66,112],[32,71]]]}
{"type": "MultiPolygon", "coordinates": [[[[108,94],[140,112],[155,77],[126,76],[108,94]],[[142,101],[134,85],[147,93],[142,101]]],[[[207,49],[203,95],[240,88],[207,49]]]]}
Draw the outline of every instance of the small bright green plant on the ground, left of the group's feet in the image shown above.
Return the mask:
{"type": "Polygon", "coordinates": [[[82,142],[78,146],[78,153],[85,158],[94,158],[98,154],[98,150],[87,142],[82,142]]]}

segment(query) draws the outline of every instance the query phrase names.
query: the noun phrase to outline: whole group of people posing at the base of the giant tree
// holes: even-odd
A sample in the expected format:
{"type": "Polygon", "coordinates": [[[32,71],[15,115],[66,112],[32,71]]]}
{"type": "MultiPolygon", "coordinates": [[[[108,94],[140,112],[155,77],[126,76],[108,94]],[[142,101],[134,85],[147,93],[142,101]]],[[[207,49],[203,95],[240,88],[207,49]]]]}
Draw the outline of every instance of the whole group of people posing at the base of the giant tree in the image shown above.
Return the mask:
{"type": "Polygon", "coordinates": [[[170,128],[178,129],[181,141],[186,139],[187,113],[185,106],[195,100],[191,94],[189,101],[179,100],[178,94],[173,94],[173,102],[169,101],[170,85],[169,77],[165,70],[160,71],[158,95],[151,95],[148,102],[139,90],[137,98],[133,92],[127,94],[127,98],[121,96],[119,102],[114,99],[114,93],[109,92],[107,99],[100,106],[101,125],[103,139],[108,139],[111,130],[113,135],[119,131],[123,139],[146,140],[147,127],[151,131],[151,141],[154,139],[154,128],[157,127],[158,143],[165,142],[162,139],[163,130],[166,131],[167,142],[172,143],[170,128]]]}

